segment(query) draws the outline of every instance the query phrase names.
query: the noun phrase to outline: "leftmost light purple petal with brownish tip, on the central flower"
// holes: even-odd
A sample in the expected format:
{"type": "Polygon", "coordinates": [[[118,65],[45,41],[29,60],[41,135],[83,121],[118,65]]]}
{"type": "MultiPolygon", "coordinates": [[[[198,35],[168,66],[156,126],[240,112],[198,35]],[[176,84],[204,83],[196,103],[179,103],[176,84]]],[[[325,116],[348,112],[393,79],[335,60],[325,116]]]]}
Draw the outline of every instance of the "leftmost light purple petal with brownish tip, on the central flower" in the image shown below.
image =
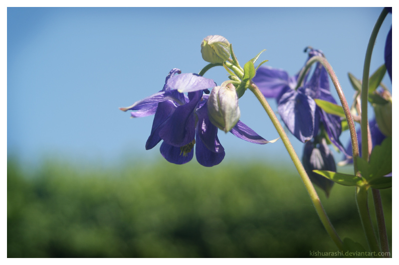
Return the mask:
{"type": "Polygon", "coordinates": [[[179,99],[180,97],[181,96],[179,96],[179,94],[177,94],[176,92],[160,91],[158,93],[151,95],[150,97],[136,101],[132,106],[126,108],[119,108],[119,109],[122,111],[127,111],[127,110],[137,111],[141,109],[149,109],[151,106],[156,106],[158,103],[164,102],[166,100],[173,100],[178,104],[183,105],[184,102],[182,102],[179,99]]]}

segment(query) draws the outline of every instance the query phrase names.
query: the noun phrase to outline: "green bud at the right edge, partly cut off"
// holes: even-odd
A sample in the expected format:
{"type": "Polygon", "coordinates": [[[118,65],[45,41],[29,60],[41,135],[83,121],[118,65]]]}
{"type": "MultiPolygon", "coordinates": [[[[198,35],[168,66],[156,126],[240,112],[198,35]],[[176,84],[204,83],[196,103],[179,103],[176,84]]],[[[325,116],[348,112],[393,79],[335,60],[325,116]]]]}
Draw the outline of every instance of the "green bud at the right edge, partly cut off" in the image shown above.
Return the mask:
{"type": "Polygon", "coordinates": [[[392,96],[388,91],[384,91],[382,97],[388,103],[384,105],[373,104],[376,122],[381,133],[386,136],[392,136],[392,96]]]}

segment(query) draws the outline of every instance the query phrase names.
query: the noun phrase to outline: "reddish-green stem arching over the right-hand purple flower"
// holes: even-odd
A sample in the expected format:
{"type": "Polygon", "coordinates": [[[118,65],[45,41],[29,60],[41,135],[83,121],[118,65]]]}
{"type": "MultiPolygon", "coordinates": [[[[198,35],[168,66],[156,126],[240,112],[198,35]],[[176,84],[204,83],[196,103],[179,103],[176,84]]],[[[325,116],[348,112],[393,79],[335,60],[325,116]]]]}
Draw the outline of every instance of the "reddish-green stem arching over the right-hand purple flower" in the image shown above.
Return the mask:
{"type": "Polygon", "coordinates": [[[348,102],[346,101],[344,92],[342,91],[340,82],[338,81],[338,78],[335,75],[334,70],[331,67],[330,63],[324,57],[313,56],[312,58],[309,59],[309,61],[305,65],[305,67],[302,69],[302,71],[301,71],[302,74],[300,75],[298,81],[303,80],[305,73],[315,62],[321,63],[324,66],[324,68],[327,70],[331,80],[333,81],[333,84],[334,84],[335,90],[337,91],[338,97],[340,98],[341,105],[342,105],[342,108],[344,109],[345,117],[348,122],[349,132],[351,133],[353,167],[354,167],[355,175],[360,176],[358,166],[357,166],[357,159],[356,159],[356,157],[359,156],[359,146],[358,146],[358,137],[356,134],[355,123],[353,121],[351,110],[349,108],[348,102]]]}

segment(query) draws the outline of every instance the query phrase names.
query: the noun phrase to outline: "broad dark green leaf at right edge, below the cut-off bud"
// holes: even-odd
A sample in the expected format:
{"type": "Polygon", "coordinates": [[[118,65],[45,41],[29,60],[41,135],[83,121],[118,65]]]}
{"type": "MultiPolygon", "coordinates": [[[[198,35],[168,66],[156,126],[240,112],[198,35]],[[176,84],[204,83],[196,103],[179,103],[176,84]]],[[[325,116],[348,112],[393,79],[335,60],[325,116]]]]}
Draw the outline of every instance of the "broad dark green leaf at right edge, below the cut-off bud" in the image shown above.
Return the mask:
{"type": "MultiPolygon", "coordinates": [[[[370,155],[370,180],[383,177],[392,172],[392,137],[387,137],[376,145],[370,155]]],[[[363,175],[362,175],[363,176],[363,175]]],[[[364,177],[364,176],[363,176],[364,177]]]]}

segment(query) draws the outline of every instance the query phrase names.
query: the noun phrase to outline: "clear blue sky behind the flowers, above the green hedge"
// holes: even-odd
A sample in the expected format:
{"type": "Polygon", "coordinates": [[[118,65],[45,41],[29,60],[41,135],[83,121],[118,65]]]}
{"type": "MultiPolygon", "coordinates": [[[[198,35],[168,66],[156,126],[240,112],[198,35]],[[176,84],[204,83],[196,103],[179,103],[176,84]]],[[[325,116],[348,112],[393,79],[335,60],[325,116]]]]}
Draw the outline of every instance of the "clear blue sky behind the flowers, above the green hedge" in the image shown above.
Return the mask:
{"type": "MultiPolygon", "coordinates": [[[[28,163],[46,156],[105,163],[162,158],[145,150],[153,117],[118,110],[162,89],[172,68],[198,73],[200,43],[222,35],[243,65],[262,49],[266,65],[294,75],[306,46],[321,49],[349,102],[347,73],[361,78],[367,43],[382,8],[7,8],[7,153],[28,163]]],[[[384,63],[392,15],[374,47],[371,71],[384,63]]],[[[223,69],[205,77],[221,84],[223,69]]],[[[388,77],[383,82],[391,89],[388,77]]],[[[338,101],[338,97],[335,97],[338,101]]],[[[276,110],[274,101],[270,101],[276,110]]],[[[239,102],[241,121],[278,137],[255,97],[239,102]]],[[[373,113],[371,112],[371,116],[373,113]]],[[[281,140],[255,145],[218,133],[225,159],[288,161],[281,140]]],[[[347,142],[349,133],[341,136],[347,142]]],[[[291,135],[301,156],[302,146],[291,135]]],[[[197,163],[195,160],[191,163],[197,163]]]]}

